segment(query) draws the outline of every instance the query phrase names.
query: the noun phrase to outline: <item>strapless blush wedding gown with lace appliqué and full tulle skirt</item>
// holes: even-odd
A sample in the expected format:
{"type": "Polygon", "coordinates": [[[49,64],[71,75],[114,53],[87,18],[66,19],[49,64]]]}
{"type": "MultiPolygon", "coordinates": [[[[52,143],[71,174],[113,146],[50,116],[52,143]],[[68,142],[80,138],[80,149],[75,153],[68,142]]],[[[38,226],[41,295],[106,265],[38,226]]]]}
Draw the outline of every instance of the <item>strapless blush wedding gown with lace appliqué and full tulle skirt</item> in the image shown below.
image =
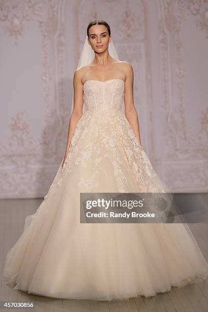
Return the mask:
{"type": "Polygon", "coordinates": [[[123,300],[204,281],[208,264],[187,224],[80,223],[80,192],[165,192],[121,110],[124,81],[83,88],[86,112],[64,167],[25,219],[4,283],[54,298],[123,300]]]}

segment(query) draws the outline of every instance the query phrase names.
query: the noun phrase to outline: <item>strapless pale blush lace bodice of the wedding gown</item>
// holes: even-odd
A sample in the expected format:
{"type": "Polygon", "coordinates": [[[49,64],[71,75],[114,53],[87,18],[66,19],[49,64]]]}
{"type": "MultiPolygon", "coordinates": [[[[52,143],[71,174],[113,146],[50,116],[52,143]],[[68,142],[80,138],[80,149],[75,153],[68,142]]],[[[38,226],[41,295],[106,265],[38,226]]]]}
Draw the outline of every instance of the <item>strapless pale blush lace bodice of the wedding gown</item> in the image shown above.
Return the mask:
{"type": "Polygon", "coordinates": [[[87,80],[84,83],[83,100],[86,112],[92,110],[121,110],[124,96],[124,81],[87,80]]]}

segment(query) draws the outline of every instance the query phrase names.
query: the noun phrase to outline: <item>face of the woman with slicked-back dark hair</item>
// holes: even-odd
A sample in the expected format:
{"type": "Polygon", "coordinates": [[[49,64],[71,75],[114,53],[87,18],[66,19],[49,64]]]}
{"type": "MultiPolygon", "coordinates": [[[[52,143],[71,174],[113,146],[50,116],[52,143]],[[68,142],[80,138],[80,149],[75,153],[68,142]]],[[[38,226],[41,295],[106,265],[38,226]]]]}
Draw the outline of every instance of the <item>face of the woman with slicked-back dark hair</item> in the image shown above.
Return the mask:
{"type": "Polygon", "coordinates": [[[96,53],[101,53],[108,49],[111,40],[112,37],[109,36],[106,26],[93,25],[90,27],[88,42],[96,53]]]}

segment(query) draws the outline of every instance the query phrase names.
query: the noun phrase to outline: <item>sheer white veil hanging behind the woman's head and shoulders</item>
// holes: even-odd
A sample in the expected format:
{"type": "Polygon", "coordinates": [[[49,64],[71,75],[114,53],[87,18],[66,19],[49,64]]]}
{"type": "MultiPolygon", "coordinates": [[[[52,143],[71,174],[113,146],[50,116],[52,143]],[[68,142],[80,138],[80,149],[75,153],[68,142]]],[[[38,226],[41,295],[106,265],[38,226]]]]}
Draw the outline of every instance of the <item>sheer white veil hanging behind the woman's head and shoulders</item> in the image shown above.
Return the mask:
{"type": "MultiPolygon", "coordinates": [[[[109,54],[112,58],[119,60],[116,48],[115,48],[114,43],[113,43],[113,40],[111,40],[111,42],[109,43],[109,54]]],[[[94,60],[94,57],[95,57],[95,53],[94,53],[93,49],[91,48],[91,46],[89,45],[88,38],[86,36],[85,43],[84,43],[84,46],[83,46],[83,49],[81,52],[81,56],[80,56],[80,60],[79,60],[79,63],[77,65],[77,68],[79,68],[81,66],[89,65],[94,60]]],[[[73,112],[73,101],[74,101],[74,94],[72,97],[70,116],[73,112]]],[[[85,113],[85,105],[83,105],[83,114],[84,113],[85,113]]]]}

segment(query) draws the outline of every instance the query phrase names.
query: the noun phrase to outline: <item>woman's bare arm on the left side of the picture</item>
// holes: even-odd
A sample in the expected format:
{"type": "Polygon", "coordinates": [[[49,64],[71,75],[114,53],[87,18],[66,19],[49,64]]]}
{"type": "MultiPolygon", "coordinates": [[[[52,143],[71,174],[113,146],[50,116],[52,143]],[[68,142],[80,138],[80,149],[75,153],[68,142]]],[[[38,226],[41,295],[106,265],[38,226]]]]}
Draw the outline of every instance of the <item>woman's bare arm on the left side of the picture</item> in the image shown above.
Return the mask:
{"type": "Polygon", "coordinates": [[[64,156],[63,163],[62,163],[62,167],[64,165],[64,162],[68,154],[69,146],[71,143],[71,138],[73,136],[76,124],[82,117],[82,113],[83,113],[83,84],[81,81],[81,75],[82,75],[81,69],[80,68],[76,69],[74,72],[74,76],[73,76],[73,89],[74,89],[73,111],[69,119],[66,151],[65,151],[65,156],[64,156]]]}

